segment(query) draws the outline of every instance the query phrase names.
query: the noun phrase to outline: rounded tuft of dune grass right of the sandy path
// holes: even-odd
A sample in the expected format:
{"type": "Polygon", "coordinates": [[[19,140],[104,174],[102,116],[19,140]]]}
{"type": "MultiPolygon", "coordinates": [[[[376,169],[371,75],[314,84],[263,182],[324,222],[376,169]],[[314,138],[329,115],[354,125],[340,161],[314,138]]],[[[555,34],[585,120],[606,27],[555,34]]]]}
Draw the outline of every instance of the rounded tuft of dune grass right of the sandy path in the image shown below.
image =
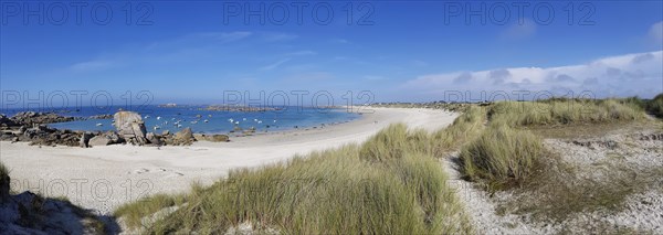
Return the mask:
{"type": "Polygon", "coordinates": [[[464,177],[499,190],[526,182],[546,153],[534,133],[492,126],[461,150],[460,159],[464,177]]]}

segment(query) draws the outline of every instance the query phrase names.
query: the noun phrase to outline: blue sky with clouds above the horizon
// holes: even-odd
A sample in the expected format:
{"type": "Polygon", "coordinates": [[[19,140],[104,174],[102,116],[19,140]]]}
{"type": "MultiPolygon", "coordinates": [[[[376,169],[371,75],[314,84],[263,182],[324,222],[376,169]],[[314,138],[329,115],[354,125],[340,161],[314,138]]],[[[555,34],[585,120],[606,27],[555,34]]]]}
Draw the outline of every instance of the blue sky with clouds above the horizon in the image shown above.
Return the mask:
{"type": "Polygon", "coordinates": [[[3,92],[34,97],[39,90],[107,90],[115,104],[126,90],[149,90],[155,103],[219,103],[223,90],[329,90],[336,104],[346,90],[370,90],[378,102],[438,100],[448,90],[663,92],[661,1],[550,1],[538,13],[529,3],[522,18],[514,3],[523,2],[504,2],[507,11],[492,1],[311,2],[302,23],[285,2],[283,25],[274,23],[283,9],[267,1],[248,3],[274,10],[263,14],[264,24],[259,17],[244,22],[244,2],[166,1],[133,2],[128,25],[127,2],[108,4],[113,18],[106,25],[95,23],[105,18],[103,8],[93,18],[93,3],[83,7],[78,24],[66,2],[67,21],[55,25],[61,6],[41,3],[44,23],[25,17],[25,8],[39,9],[40,2],[2,2],[3,92]],[[327,3],[334,17],[325,25],[316,20],[326,19],[327,3]],[[465,22],[467,7],[482,3],[486,22],[465,22]],[[242,9],[231,14],[233,6],[242,9]],[[137,25],[148,10],[149,25],[137,25]],[[368,25],[358,25],[369,11],[360,22],[368,25]],[[501,12],[509,14],[504,23],[496,22],[504,19],[501,12]]]}

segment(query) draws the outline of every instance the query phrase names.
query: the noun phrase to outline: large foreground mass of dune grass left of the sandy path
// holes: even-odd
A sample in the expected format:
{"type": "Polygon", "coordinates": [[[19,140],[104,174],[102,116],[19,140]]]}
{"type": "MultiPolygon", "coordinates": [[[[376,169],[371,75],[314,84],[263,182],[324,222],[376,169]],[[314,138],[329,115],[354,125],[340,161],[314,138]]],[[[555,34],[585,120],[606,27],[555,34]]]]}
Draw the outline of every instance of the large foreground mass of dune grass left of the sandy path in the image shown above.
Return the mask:
{"type": "MultiPolygon", "coordinates": [[[[445,184],[441,162],[430,154],[430,142],[425,131],[393,125],[362,146],[233,170],[213,185],[188,194],[186,204],[146,233],[218,234],[246,222],[259,233],[470,233],[463,206],[445,184]]],[[[131,203],[116,215],[136,225],[170,202],[131,203]]]]}

